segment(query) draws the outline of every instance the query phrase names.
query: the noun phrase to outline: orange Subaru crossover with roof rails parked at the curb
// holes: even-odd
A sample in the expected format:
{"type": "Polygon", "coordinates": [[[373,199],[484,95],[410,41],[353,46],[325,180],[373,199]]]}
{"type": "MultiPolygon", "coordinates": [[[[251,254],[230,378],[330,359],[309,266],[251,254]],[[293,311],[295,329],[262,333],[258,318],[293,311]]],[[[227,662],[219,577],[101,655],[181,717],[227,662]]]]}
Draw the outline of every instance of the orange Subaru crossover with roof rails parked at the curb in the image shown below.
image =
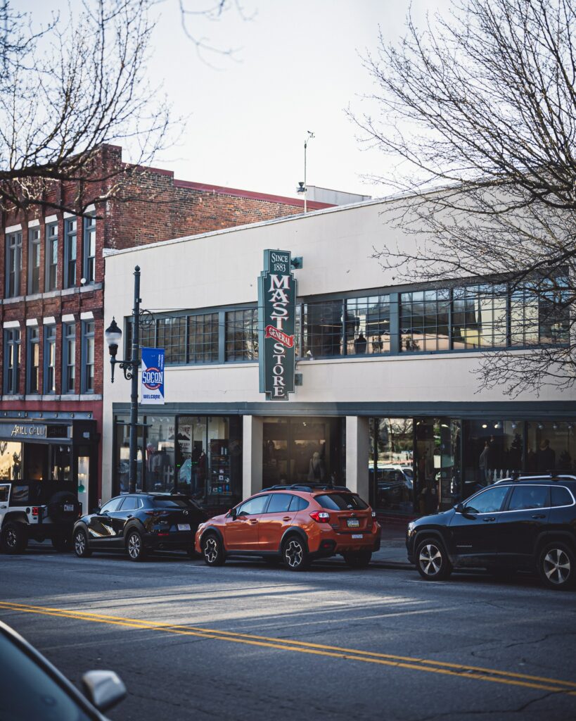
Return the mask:
{"type": "Polygon", "coordinates": [[[341,554],[361,568],[379,549],[380,534],[372,508],[347,488],[274,486],[200,523],[196,550],[209,566],[259,556],[300,571],[314,559],[341,554]]]}

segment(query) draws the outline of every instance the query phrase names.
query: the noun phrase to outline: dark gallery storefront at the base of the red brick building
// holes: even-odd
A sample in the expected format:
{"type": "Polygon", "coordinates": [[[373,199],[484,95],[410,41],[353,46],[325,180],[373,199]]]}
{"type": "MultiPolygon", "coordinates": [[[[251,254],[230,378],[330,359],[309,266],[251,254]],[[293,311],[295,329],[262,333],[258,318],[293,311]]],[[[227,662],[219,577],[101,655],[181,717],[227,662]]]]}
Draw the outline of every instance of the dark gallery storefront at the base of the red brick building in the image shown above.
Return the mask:
{"type": "Polygon", "coordinates": [[[38,483],[42,498],[73,492],[86,513],[99,503],[98,442],[91,412],[2,411],[0,482],[12,482],[12,498],[22,503],[38,483]]]}

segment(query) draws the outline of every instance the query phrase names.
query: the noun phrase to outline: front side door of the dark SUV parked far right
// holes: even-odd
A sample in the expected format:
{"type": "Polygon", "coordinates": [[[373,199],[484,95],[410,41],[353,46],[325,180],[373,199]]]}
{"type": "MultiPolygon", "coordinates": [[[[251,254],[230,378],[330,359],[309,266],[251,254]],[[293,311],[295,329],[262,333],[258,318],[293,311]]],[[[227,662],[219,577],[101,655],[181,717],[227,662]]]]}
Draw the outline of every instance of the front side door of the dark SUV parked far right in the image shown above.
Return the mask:
{"type": "Polygon", "coordinates": [[[496,523],[509,486],[495,485],[456,508],[449,525],[450,553],[462,565],[490,565],[498,552],[496,523]]]}

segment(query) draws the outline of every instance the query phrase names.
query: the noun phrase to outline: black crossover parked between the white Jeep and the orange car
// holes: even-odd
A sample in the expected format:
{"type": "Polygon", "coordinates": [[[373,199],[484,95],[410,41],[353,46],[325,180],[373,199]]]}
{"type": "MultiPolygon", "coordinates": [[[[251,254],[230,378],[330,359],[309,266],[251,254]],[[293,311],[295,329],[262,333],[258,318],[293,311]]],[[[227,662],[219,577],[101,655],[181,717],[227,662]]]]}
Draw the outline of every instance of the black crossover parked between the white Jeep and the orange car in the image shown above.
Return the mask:
{"type": "Polygon", "coordinates": [[[81,558],[114,549],[125,550],[132,561],[142,561],[154,550],[181,549],[193,557],[194,534],[206,518],[186,495],[129,493],[79,518],[73,547],[81,558]]]}

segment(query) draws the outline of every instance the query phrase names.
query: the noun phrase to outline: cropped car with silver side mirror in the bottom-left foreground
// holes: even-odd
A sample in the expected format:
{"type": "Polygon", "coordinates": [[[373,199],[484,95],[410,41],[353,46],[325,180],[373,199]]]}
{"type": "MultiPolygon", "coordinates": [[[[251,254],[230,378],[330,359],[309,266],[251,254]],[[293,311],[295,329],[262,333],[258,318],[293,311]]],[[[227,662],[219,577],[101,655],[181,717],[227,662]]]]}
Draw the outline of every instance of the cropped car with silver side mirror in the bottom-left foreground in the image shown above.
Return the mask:
{"type": "Polygon", "coordinates": [[[126,696],[114,671],[82,676],[84,695],[30,643],[0,621],[0,719],[2,721],[106,721],[126,696]]]}

